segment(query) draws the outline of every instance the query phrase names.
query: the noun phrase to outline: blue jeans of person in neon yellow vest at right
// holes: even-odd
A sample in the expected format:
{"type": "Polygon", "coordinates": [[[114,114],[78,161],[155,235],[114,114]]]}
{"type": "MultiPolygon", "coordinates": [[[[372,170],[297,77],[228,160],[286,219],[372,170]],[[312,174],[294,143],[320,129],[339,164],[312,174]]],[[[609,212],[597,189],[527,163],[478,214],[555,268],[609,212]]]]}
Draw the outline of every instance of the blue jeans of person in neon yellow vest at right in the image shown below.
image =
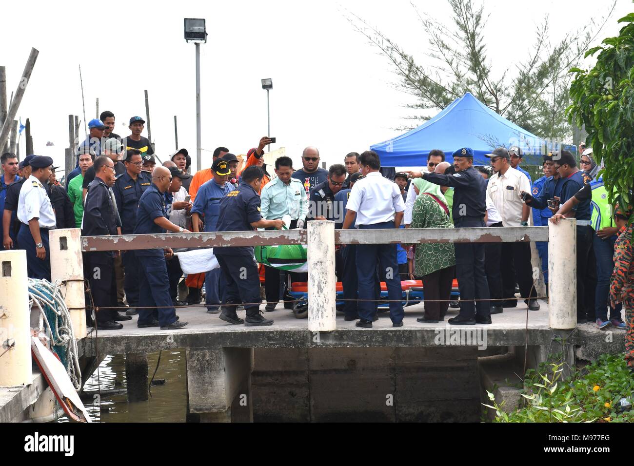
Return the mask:
{"type": "MultiPolygon", "coordinates": [[[[614,271],[614,242],[616,236],[602,240],[594,233],[592,245],[597,257],[597,288],[595,293],[595,317],[607,320],[608,297],[610,295],[610,278],[614,271]]],[[[610,319],[621,320],[623,304],[619,302],[615,309],[610,306],[610,319]]]]}

